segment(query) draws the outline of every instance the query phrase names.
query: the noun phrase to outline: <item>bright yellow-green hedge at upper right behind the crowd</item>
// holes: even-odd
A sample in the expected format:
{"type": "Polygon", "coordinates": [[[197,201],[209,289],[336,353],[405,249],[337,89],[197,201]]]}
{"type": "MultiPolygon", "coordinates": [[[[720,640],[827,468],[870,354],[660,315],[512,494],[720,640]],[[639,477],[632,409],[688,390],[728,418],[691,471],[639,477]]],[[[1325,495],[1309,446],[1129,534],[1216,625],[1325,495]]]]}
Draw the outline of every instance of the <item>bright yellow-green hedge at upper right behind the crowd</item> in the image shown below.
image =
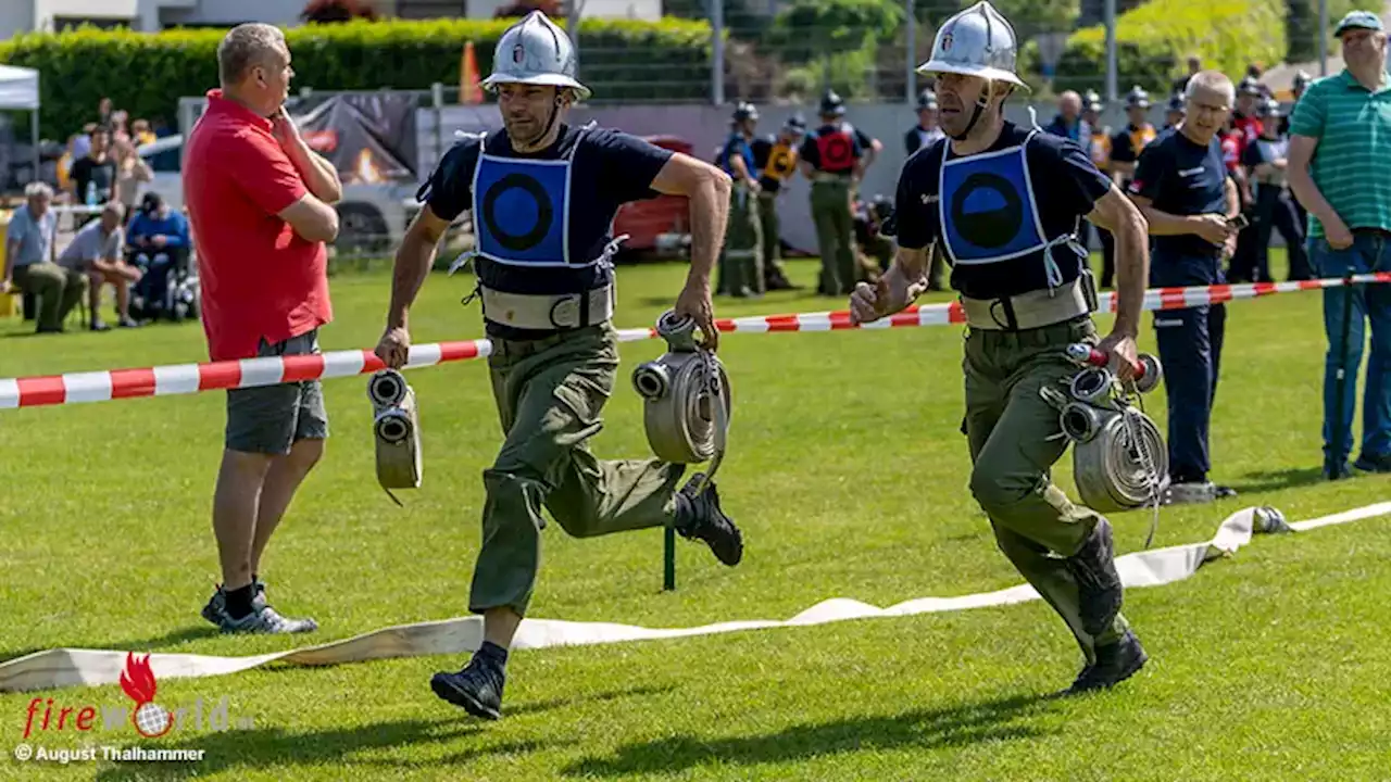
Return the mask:
{"type": "MultiPolygon", "coordinates": [[[[1285,0],[1152,0],[1116,24],[1118,88],[1141,85],[1167,96],[1173,81],[1198,54],[1205,68],[1239,79],[1251,63],[1270,65],[1285,54],[1285,0]]],[[[1079,29],[1057,64],[1057,92],[1106,83],[1106,28],[1079,29]]]]}

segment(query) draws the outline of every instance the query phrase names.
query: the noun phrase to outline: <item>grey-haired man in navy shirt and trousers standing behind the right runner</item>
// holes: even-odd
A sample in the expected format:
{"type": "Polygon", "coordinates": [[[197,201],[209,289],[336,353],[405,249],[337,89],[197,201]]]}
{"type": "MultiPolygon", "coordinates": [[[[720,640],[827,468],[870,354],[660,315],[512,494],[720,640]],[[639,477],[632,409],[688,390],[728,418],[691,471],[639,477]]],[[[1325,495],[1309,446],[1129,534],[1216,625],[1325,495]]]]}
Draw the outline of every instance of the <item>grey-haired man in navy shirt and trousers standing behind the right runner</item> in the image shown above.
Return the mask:
{"type": "MultiPolygon", "coordinates": [[[[1202,71],[1188,81],[1185,118],[1145,147],[1129,193],[1155,237],[1150,285],[1224,282],[1235,252],[1237,184],[1227,175],[1219,131],[1234,102],[1231,79],[1202,71]]],[[[1168,391],[1170,502],[1210,502],[1235,494],[1207,480],[1207,431],[1227,308],[1202,305],[1155,313],[1155,338],[1168,391]]]]}

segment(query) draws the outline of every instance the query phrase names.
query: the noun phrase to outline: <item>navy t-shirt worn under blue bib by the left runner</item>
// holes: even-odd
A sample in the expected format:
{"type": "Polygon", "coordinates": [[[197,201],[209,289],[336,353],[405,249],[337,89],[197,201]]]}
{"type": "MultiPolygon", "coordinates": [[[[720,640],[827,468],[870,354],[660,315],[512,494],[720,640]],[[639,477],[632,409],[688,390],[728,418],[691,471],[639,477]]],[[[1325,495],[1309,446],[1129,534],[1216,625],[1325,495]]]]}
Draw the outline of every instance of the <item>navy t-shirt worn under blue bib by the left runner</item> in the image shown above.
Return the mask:
{"type": "MultiPolygon", "coordinates": [[[[465,210],[473,209],[473,174],[483,145],[490,157],[561,160],[570,156],[573,161],[566,237],[573,269],[513,266],[483,256],[474,259],[480,282],[488,288],[515,294],[580,294],[609,284],[612,273],[602,264],[580,264],[598,257],[612,239],[609,227],[620,206],[661,195],[652,189],[652,179],[673,154],[669,149],[609,128],[583,129],[561,125],[556,143],[545,150],[524,154],[512,149],[506,131],[488,134],[485,139],[467,138],[444,154],[417,196],[441,220],[453,220],[465,210]]],[[[480,212],[476,210],[473,214],[474,225],[479,224],[480,212]]],[[[552,220],[562,220],[562,216],[552,210],[552,220]]],[[[552,331],[501,326],[491,320],[487,321],[487,330],[488,334],[508,340],[552,334],[552,331]]]]}

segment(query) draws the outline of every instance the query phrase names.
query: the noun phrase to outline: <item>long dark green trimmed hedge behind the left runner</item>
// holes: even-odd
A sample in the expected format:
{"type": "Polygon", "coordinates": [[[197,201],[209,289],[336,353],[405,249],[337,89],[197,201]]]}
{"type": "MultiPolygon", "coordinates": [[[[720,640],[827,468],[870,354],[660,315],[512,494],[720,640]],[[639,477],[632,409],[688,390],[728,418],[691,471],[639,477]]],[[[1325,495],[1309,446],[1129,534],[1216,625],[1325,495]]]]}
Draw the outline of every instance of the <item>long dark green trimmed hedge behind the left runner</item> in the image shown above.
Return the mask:
{"type": "MultiPolygon", "coordinates": [[[[498,38],[516,19],[357,19],[288,28],[292,89],[430,89],[459,83],[459,56],[473,40],[479,70],[492,65],[498,38]]],[[[565,26],[563,19],[558,19],[565,26]]],[[[217,43],[225,29],[157,33],[81,28],[0,42],[0,63],[40,72],[40,131],[65,139],[96,120],[111,97],[131,118],[177,121],[178,99],[217,86],[217,43]]],[[[664,18],[586,19],[580,78],[593,102],[702,100],[709,95],[711,26],[664,18]]]]}

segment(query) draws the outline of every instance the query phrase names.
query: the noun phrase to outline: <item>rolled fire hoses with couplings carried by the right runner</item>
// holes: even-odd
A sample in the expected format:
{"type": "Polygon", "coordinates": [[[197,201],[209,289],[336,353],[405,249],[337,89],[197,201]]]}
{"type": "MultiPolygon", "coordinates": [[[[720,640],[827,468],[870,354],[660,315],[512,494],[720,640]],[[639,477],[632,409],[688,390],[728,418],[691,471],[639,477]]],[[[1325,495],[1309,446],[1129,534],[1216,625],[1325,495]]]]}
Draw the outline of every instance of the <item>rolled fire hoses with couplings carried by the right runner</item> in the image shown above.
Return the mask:
{"type": "MultiPolygon", "coordinates": [[[[1159,529],[1159,505],[1168,479],[1168,449],[1159,427],[1131,404],[1131,394],[1104,366],[1095,366],[1099,353],[1074,345],[1068,355],[1082,369],[1067,383],[1067,394],[1046,388],[1059,408],[1063,433],[1072,441],[1072,479],[1082,502],[1106,513],[1152,506],[1149,548],[1159,529]]],[[[1102,360],[1100,363],[1104,363],[1102,360]]],[[[1163,367],[1150,355],[1141,356],[1135,395],[1159,385],[1163,367]]]]}

